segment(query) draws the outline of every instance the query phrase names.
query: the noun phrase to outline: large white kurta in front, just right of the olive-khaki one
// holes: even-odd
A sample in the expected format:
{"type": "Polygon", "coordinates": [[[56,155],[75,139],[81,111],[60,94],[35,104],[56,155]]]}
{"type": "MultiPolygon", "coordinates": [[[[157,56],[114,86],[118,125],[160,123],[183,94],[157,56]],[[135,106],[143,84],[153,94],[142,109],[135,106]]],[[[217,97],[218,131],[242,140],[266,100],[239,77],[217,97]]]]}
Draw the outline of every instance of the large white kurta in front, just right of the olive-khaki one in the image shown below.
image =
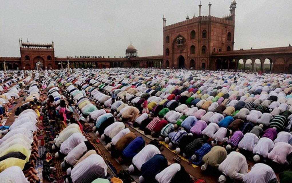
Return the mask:
{"type": "Polygon", "coordinates": [[[246,158],[239,152],[232,151],[219,165],[218,170],[231,179],[241,180],[248,170],[246,158]]]}

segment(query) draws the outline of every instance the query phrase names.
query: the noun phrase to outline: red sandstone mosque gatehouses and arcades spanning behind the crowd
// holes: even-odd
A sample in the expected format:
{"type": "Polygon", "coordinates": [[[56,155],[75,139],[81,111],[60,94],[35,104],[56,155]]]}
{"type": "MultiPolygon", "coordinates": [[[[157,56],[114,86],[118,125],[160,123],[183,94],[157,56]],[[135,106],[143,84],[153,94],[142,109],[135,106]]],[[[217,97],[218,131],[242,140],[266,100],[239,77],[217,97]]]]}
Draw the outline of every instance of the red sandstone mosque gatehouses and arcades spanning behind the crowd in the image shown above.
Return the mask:
{"type": "Polygon", "coordinates": [[[126,49],[126,55],[119,58],[104,56],[56,57],[54,42],[35,44],[19,40],[20,57],[0,57],[0,69],[62,69],[71,68],[175,68],[196,70],[217,69],[255,69],[271,72],[292,73],[292,47],[234,50],[235,9],[237,3],[230,5],[230,15],[218,18],[209,14],[166,25],[163,17],[163,55],[139,57],[132,43],[126,49]],[[265,65],[270,67],[264,68],[265,65]]]}

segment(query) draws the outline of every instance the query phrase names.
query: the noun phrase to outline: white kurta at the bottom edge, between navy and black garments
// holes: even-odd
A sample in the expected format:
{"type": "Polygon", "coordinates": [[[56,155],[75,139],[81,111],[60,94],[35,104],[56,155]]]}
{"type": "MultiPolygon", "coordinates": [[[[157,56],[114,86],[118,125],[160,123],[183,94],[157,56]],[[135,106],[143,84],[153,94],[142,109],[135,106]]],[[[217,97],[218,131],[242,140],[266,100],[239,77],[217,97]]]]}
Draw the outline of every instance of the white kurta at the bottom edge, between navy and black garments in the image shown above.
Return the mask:
{"type": "Polygon", "coordinates": [[[180,171],[180,164],[173,163],[158,173],[155,179],[159,183],[169,183],[178,171],[180,171]]]}

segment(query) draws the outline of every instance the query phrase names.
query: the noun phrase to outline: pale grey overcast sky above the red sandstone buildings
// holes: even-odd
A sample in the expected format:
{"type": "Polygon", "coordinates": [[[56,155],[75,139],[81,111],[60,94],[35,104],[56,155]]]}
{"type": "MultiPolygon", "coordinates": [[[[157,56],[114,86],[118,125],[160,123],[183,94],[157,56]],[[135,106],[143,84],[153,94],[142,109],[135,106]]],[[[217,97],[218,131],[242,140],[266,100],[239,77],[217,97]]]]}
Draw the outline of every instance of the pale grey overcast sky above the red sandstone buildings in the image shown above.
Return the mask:
{"type": "MultiPolygon", "coordinates": [[[[211,15],[230,14],[233,0],[211,0],[211,15]]],[[[202,15],[208,15],[202,0],[202,15]]],[[[166,25],[198,16],[199,0],[0,0],[0,56],[20,56],[18,38],[53,39],[55,56],[124,56],[132,41],[139,56],[163,54],[166,25]]],[[[237,0],[234,49],[292,43],[291,0],[237,0]]]]}

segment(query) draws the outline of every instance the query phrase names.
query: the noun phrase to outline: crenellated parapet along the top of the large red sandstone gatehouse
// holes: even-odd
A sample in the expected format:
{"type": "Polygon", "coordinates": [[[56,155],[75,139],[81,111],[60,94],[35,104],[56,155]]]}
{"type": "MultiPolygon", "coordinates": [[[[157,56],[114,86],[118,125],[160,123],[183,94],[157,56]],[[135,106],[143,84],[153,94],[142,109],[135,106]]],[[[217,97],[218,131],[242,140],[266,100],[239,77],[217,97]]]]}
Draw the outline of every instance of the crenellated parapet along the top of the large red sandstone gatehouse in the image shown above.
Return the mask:
{"type": "Polygon", "coordinates": [[[232,15],[226,16],[226,17],[223,17],[223,18],[214,17],[214,16],[193,17],[193,18],[190,18],[188,20],[184,20],[184,21],[181,21],[181,22],[177,22],[175,24],[167,25],[167,26],[164,27],[164,30],[173,29],[173,28],[176,28],[176,27],[180,27],[180,26],[184,26],[184,25],[188,25],[188,24],[196,23],[196,22],[200,22],[200,21],[212,21],[212,22],[217,22],[217,23],[222,23],[222,24],[227,24],[227,25],[234,26],[234,21],[230,20],[231,18],[232,18],[232,15]]]}

